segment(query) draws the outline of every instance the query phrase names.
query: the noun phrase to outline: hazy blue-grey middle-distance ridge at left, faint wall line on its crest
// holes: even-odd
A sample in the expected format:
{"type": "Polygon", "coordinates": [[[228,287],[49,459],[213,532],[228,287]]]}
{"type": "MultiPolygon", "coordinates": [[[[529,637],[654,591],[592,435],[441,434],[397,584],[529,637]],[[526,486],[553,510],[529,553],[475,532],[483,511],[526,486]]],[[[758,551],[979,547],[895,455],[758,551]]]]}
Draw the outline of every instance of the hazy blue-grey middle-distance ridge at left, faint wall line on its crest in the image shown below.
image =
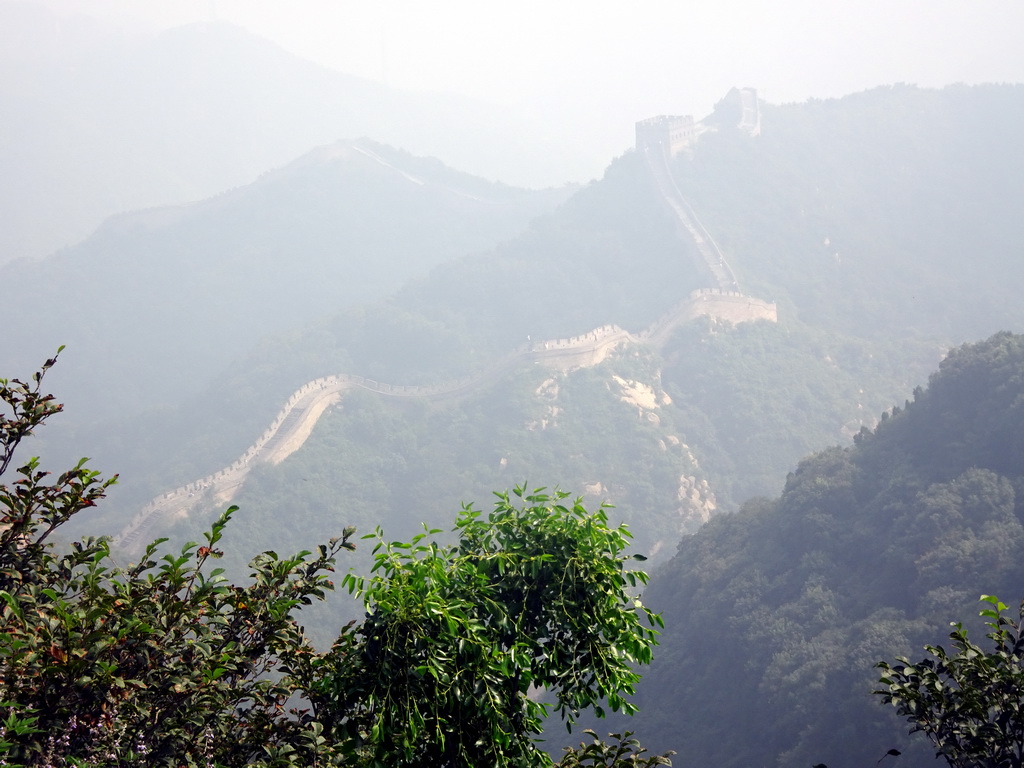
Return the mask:
{"type": "Polygon", "coordinates": [[[68,346],[54,377],[79,414],[68,427],[177,407],[265,336],[490,249],[569,193],[338,142],[215,198],[122,214],[75,248],[0,267],[0,284],[23,287],[5,296],[0,351],[11,370],[31,370],[68,346]]]}

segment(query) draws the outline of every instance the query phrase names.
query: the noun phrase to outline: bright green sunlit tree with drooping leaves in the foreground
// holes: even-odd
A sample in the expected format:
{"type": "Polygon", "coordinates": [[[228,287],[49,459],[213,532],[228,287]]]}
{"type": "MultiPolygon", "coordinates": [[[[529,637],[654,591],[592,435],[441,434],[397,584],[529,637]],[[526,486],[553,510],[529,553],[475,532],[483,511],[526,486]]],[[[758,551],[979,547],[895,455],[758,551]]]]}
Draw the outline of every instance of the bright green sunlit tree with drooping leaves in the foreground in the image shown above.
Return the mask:
{"type": "Polygon", "coordinates": [[[367,618],[326,657],[313,702],[371,765],[547,765],[549,710],[569,726],[602,703],[635,711],[660,617],[631,596],[647,577],[628,567],[629,530],[562,492],[497,496],[485,517],[463,508],[454,546],[378,530],[374,575],[346,577],[367,618]]]}

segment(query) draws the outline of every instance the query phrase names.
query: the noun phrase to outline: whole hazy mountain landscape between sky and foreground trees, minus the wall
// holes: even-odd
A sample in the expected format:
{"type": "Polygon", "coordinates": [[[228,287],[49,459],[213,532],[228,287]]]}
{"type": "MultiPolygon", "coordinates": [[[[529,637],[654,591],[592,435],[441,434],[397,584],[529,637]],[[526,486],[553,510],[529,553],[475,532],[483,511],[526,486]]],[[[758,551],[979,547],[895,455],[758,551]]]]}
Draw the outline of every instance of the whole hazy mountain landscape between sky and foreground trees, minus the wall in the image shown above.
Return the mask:
{"type": "MultiPolygon", "coordinates": [[[[191,483],[188,515],[146,532],[197,539],[237,503],[241,571],[348,524],[445,526],[521,482],[611,502],[664,566],[649,597],[669,620],[627,725],[684,766],[863,764],[902,730],[864,701],[870,663],[940,637],[976,592],[1019,597],[1020,339],[961,349],[915,387],[950,348],[1024,327],[1024,87],[762,100],[760,135],[723,99],[668,173],[778,322],[710,312],[651,341],[714,286],[643,152],[581,188],[512,187],[458,159],[498,173],[543,150],[473,105],[224,25],[95,32],[56,63],[45,46],[8,56],[0,79],[0,237],[38,256],[0,266],[0,375],[69,345],[47,379],[68,414],[37,444],[123,479],[82,532],[116,535],[191,483]],[[600,354],[542,354],[610,335],[600,354]],[[196,486],[341,374],[375,386],[229,499],[196,486]]],[[[313,634],[350,610],[332,603],[313,634]]]]}

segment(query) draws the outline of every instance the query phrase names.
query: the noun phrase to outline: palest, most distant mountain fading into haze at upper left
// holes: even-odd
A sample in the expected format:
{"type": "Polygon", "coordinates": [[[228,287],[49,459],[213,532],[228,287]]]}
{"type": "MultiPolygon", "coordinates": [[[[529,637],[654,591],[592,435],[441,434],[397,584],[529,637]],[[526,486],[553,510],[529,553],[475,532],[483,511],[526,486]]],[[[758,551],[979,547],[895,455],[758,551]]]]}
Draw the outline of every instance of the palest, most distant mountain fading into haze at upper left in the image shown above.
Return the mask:
{"type": "Polygon", "coordinates": [[[560,185],[583,167],[550,128],[546,146],[493,105],[333,72],[227,23],[152,36],[3,2],[0,43],[0,263],[74,245],[126,210],[247,184],[339,139],[519,184],[560,185]]]}

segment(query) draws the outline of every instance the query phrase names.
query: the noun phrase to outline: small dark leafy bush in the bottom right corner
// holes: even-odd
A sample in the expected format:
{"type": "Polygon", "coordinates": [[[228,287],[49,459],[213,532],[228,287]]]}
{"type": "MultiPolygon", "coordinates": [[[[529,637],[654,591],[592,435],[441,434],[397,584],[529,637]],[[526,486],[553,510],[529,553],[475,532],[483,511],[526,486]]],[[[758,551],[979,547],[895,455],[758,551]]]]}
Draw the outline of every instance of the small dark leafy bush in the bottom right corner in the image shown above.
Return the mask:
{"type": "Polygon", "coordinates": [[[925,733],[953,768],[1020,768],[1024,764],[1024,602],[1014,620],[1008,606],[983,595],[992,641],[972,642],[962,624],[949,638],[952,652],[928,645],[929,656],[911,664],[879,664],[885,686],[874,693],[925,733]]]}

